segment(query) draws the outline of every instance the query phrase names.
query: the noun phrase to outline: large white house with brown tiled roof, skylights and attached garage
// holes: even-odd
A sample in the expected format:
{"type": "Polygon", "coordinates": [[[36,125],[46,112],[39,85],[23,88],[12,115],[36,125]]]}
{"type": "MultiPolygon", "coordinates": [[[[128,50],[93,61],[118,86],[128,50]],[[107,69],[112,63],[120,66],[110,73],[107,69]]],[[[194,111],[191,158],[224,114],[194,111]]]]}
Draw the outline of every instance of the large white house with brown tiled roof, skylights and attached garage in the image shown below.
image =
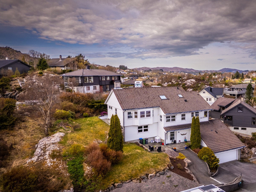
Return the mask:
{"type": "MultiPolygon", "coordinates": [[[[216,120],[209,120],[211,106],[198,93],[186,92],[181,87],[113,89],[109,93],[105,104],[108,105],[108,118],[115,114],[118,115],[124,131],[125,141],[138,141],[139,138],[148,138],[149,141],[157,139],[164,145],[173,141],[189,141],[193,116],[200,118],[202,127],[208,125],[209,122],[211,122],[211,125],[219,125],[214,124],[216,120]]],[[[202,127],[201,129],[204,129],[202,127]]],[[[212,129],[215,129],[215,127],[213,126],[212,129]]],[[[228,128],[223,130],[228,132],[225,136],[228,135],[232,138],[228,145],[229,148],[224,148],[224,150],[226,152],[235,150],[234,153],[239,154],[243,143],[228,128]]],[[[218,141],[218,138],[216,138],[216,135],[212,135],[212,131],[207,132],[209,134],[202,136],[202,142],[207,146],[214,147],[207,138],[213,136],[215,142],[218,141]]],[[[218,141],[218,145],[222,142],[225,143],[225,141],[218,141]]],[[[223,151],[220,148],[215,152],[223,151]]],[[[236,159],[239,159],[239,156],[236,156],[236,159]]]]}

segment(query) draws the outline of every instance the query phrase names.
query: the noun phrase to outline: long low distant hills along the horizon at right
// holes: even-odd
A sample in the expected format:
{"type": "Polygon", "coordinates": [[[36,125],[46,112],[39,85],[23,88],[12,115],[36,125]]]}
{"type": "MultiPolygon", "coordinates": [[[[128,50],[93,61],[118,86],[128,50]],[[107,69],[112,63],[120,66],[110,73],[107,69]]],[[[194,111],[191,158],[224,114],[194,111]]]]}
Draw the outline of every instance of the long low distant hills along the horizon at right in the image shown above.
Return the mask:
{"type": "Polygon", "coordinates": [[[181,67],[138,67],[132,68],[134,70],[163,70],[164,72],[185,72],[185,73],[193,73],[193,72],[248,72],[248,70],[239,70],[236,68],[221,68],[220,70],[195,70],[193,68],[181,68],[181,67]]]}

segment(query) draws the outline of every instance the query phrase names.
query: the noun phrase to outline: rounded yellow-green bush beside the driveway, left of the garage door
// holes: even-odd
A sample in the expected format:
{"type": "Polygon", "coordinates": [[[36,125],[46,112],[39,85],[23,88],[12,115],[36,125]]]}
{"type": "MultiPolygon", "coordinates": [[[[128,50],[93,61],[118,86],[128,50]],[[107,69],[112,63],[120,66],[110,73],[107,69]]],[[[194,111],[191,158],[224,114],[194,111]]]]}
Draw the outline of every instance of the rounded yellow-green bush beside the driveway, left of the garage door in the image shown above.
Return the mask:
{"type": "Polygon", "coordinates": [[[213,170],[219,166],[220,159],[214,155],[214,152],[212,152],[211,148],[209,147],[203,147],[198,153],[198,157],[208,164],[210,170],[213,170]]]}

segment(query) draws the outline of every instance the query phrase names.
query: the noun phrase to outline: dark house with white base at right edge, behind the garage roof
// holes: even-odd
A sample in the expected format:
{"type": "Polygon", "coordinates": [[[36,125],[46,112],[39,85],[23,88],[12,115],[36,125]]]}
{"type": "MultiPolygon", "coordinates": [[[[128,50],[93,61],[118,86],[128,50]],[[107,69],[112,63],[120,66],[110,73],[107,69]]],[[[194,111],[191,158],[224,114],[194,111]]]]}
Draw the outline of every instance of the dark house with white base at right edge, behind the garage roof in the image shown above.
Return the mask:
{"type": "Polygon", "coordinates": [[[237,99],[221,113],[231,131],[251,135],[256,132],[256,109],[237,99]]]}

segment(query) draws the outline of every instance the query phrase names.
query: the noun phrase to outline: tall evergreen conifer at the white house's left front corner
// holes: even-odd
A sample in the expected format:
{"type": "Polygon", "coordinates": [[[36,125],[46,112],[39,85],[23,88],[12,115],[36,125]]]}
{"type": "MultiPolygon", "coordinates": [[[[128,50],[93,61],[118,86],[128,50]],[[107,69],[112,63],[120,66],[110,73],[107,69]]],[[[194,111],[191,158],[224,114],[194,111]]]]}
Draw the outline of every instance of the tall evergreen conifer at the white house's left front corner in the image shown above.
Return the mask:
{"type": "Polygon", "coordinates": [[[112,115],[110,119],[110,128],[108,132],[108,147],[115,151],[123,151],[124,139],[120,120],[117,115],[112,115]]]}

